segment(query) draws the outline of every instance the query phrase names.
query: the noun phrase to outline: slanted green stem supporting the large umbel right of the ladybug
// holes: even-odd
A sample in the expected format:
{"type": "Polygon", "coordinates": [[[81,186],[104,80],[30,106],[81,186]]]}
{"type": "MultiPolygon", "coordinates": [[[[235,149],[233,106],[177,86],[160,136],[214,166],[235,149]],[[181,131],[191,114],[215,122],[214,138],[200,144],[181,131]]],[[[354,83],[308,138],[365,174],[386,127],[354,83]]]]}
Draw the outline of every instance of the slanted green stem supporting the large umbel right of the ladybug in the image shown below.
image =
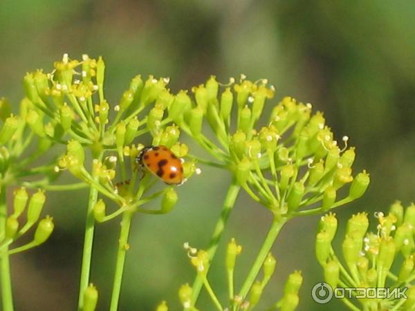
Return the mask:
{"type": "Polygon", "coordinates": [[[274,218],[273,224],[271,225],[270,230],[268,231],[264,244],[261,246],[261,249],[259,249],[258,256],[255,259],[255,262],[252,265],[251,270],[245,279],[245,282],[243,282],[241,291],[239,292],[239,296],[241,296],[242,299],[245,299],[252,284],[255,282],[255,279],[257,278],[259,270],[261,270],[261,267],[264,264],[265,258],[270,252],[271,247],[273,247],[275,239],[277,238],[281,228],[286,223],[286,220],[287,220],[286,218],[277,218],[277,217],[274,218]]]}

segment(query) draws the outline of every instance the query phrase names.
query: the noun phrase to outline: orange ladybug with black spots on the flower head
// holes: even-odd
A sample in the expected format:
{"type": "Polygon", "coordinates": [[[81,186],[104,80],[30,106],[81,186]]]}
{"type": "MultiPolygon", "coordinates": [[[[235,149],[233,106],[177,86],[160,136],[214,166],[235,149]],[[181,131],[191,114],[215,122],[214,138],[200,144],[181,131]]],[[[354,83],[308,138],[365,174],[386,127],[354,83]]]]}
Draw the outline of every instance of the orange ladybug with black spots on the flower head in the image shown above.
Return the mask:
{"type": "Polygon", "coordinates": [[[184,181],[181,159],[165,146],[145,147],[137,156],[136,162],[167,185],[180,185],[184,181]]]}

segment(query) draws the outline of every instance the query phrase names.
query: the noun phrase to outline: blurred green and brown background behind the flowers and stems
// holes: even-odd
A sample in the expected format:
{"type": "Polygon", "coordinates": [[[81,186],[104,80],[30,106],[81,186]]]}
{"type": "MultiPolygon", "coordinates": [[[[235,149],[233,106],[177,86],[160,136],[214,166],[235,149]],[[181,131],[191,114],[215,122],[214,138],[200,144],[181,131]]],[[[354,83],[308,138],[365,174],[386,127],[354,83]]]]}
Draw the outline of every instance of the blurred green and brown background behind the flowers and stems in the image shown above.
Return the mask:
{"type": "MultiPolygon", "coordinates": [[[[211,74],[222,82],[240,73],[268,78],[275,101],[291,95],[313,103],[337,137],[349,135],[357,147],[355,167],[368,169],[372,182],[364,198],[337,211],[346,219],[415,198],[414,19],[415,1],[2,0],[0,95],[17,103],[24,73],[50,71],[63,53],[104,56],[109,102],[138,73],[170,77],[173,91],[211,74]]],[[[177,289],[194,277],[183,242],[207,245],[230,181],[222,171],[201,168],[201,176],[179,189],[171,214],[134,218],[120,310],[154,310],[162,299],[180,310],[177,289]]],[[[56,232],[46,245],[12,258],[17,311],[76,308],[86,192],[48,196],[56,232]]],[[[298,310],[345,310],[311,300],[311,288],[322,281],[313,254],[317,220],[300,218],[284,228],[273,249],[277,273],[260,310],[279,299],[295,269],[304,275],[298,310]]],[[[269,223],[264,208],[239,197],[225,234],[225,241],[234,236],[243,245],[237,281],[269,223]]],[[[117,236],[118,221],[98,226],[91,280],[100,290],[99,310],[108,308],[117,236]]],[[[211,277],[225,293],[223,249],[211,277]]],[[[213,310],[206,301],[203,295],[201,309],[213,310]]]]}

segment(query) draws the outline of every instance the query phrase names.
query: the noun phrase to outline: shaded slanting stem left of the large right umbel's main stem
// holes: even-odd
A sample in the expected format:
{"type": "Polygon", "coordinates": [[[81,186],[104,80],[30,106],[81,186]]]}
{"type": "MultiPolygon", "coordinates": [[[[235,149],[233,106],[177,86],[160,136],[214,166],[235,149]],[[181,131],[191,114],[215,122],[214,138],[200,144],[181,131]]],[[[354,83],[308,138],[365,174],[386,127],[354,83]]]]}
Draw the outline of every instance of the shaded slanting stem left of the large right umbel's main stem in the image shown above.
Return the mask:
{"type": "MultiPolygon", "coordinates": [[[[216,226],[214,227],[213,235],[210,240],[207,252],[209,257],[209,262],[212,262],[212,259],[214,257],[214,254],[216,254],[216,249],[218,248],[219,241],[221,240],[223,231],[225,229],[226,223],[228,223],[228,218],[230,215],[230,211],[232,211],[232,207],[234,206],[235,201],[237,200],[237,196],[239,194],[239,190],[241,187],[237,185],[236,181],[233,180],[230,184],[230,187],[228,189],[228,193],[226,194],[225,200],[223,201],[223,207],[221,211],[221,217],[219,218],[218,222],[216,223],[216,226]]],[[[207,270],[209,271],[210,266],[207,267],[207,270]]],[[[208,274],[208,271],[206,274],[208,274]]],[[[196,304],[196,301],[199,297],[199,294],[201,292],[201,288],[203,285],[203,279],[198,274],[196,276],[196,279],[194,279],[193,283],[193,305],[196,304]]]]}

